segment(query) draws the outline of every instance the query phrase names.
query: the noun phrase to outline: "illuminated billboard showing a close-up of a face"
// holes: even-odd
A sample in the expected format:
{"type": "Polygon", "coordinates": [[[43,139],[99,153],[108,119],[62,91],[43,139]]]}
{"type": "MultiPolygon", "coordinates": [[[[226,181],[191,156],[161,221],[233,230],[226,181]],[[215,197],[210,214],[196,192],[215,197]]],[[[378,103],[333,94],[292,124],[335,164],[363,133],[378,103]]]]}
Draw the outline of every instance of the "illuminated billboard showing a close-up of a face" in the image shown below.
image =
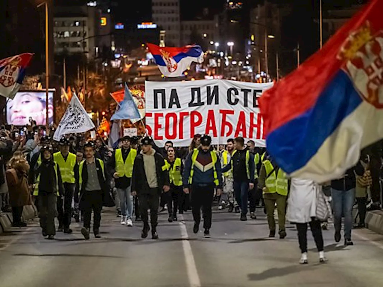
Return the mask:
{"type": "MultiPolygon", "coordinates": [[[[53,93],[48,92],[48,123],[53,122],[53,93]]],[[[16,93],[15,98],[7,102],[7,123],[14,126],[29,124],[29,118],[36,121],[38,126],[46,124],[46,92],[23,91],[16,93]]]]}

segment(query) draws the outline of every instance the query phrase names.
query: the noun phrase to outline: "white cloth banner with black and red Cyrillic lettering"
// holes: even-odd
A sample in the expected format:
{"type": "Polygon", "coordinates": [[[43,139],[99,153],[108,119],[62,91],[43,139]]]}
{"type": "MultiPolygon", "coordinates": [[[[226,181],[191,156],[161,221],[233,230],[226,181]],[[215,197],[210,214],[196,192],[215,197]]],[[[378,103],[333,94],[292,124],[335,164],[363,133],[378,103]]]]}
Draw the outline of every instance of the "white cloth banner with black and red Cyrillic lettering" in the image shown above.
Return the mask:
{"type": "Polygon", "coordinates": [[[196,134],[208,134],[212,144],[244,137],[265,147],[258,98],[273,83],[231,80],[145,82],[146,128],[159,147],[171,140],[187,147],[196,134]]]}

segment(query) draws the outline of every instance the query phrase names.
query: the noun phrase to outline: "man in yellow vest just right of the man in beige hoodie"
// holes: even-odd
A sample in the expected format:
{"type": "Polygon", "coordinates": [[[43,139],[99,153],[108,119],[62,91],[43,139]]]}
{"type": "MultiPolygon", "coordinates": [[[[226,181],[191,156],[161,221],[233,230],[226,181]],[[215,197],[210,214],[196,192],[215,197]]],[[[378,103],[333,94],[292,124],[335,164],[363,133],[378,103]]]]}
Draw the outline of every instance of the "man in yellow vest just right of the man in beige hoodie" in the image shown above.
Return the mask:
{"type": "Polygon", "coordinates": [[[166,192],[167,206],[169,212],[169,222],[177,221],[177,209],[182,199],[182,172],[183,164],[179,157],[175,156],[173,147],[167,148],[167,158],[165,165],[169,171],[170,191],[166,192]]]}

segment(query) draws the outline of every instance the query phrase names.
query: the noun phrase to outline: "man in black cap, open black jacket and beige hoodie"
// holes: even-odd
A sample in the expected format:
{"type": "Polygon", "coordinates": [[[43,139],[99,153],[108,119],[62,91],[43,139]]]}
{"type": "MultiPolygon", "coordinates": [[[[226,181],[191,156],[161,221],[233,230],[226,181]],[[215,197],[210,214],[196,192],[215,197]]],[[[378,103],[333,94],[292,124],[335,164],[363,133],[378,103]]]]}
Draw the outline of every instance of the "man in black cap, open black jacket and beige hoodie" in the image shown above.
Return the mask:
{"type": "Polygon", "coordinates": [[[168,192],[170,189],[169,172],[165,165],[164,158],[156,153],[153,141],[150,137],[141,140],[142,150],[137,155],[133,166],[132,176],[132,195],[138,196],[141,219],[144,228],[141,238],[146,238],[150,230],[148,223],[147,210],[150,209],[150,220],[152,225],[152,238],[157,239],[157,217],[159,198],[162,191],[168,192]]]}

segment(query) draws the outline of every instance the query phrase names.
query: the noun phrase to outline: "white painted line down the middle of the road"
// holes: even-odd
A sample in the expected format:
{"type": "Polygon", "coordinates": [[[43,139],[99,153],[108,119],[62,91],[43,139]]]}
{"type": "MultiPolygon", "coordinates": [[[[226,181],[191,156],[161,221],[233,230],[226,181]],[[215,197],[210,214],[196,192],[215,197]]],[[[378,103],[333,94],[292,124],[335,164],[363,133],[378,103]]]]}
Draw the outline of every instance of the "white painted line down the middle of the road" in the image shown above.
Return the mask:
{"type": "Polygon", "coordinates": [[[200,276],[198,276],[197,267],[195,265],[195,260],[193,256],[193,251],[191,251],[191,245],[188,241],[188,232],[186,230],[186,224],[183,220],[183,215],[178,215],[181,219],[180,228],[181,228],[181,236],[182,236],[182,248],[183,253],[185,254],[185,263],[186,269],[188,272],[189,284],[190,287],[201,287],[200,276]]]}

